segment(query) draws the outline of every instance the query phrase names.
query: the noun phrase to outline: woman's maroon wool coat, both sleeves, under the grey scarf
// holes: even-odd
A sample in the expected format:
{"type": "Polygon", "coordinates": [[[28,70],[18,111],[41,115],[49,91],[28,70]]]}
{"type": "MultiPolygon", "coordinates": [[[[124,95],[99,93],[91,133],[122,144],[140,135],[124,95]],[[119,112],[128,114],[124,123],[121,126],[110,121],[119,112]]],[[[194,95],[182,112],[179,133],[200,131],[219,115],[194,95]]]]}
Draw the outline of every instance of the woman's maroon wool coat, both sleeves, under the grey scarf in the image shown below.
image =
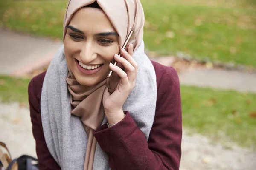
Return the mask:
{"type": "MultiPolygon", "coordinates": [[[[157,75],[157,105],[148,141],[128,111],[117,125],[111,128],[102,125],[94,132],[100,147],[109,156],[111,170],[179,169],[182,136],[179,79],[174,68],[152,63],[157,75]]],[[[29,83],[32,132],[40,170],[60,170],[47,148],[41,122],[44,76],[45,72],[29,83]]]]}

